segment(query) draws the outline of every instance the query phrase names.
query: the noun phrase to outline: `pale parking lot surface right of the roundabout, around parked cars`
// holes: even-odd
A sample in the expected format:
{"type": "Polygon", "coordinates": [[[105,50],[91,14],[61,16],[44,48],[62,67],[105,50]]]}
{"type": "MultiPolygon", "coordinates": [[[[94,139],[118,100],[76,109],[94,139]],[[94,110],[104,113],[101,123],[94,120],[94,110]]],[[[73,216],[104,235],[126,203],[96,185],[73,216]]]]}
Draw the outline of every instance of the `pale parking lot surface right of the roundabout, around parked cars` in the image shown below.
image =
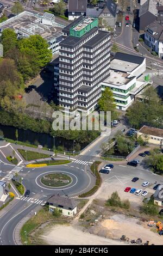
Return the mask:
{"type": "Polygon", "coordinates": [[[143,169],[140,165],[130,167],[126,164],[114,164],[114,168],[109,174],[101,174],[101,176],[104,181],[102,184],[102,192],[99,195],[101,199],[106,200],[111,196],[112,192],[117,191],[121,199],[129,199],[134,208],[139,208],[145,197],[141,196],[141,194],[140,196],[136,196],[134,193],[130,193],[130,191],[124,192],[126,187],[148,191],[146,197],[149,198],[155,192],[155,190],[153,190],[155,182],[157,182],[157,184],[163,184],[163,177],[153,174],[150,170],[143,169]],[[139,178],[139,180],[132,182],[131,180],[134,177],[139,178]],[[145,181],[150,182],[149,186],[142,186],[142,183],[145,181]]]}

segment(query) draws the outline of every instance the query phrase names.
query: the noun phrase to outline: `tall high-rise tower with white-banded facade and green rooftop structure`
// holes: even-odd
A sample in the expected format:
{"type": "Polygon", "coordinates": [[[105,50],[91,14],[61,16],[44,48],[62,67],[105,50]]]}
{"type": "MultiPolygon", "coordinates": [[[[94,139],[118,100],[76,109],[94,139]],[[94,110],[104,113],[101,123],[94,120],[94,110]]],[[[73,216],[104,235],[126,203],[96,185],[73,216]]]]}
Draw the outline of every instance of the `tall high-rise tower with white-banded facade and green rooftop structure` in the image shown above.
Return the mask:
{"type": "Polygon", "coordinates": [[[83,16],[62,33],[59,104],[89,114],[101,97],[100,83],[110,75],[110,33],[98,29],[98,19],[83,16]]]}

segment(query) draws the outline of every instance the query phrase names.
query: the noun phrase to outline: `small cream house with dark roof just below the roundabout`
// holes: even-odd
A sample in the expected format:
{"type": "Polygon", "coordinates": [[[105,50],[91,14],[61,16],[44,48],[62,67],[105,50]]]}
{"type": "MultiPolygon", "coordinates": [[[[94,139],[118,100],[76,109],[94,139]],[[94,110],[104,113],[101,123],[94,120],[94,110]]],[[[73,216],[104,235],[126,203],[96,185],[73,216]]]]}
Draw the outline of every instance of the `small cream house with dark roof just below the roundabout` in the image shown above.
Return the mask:
{"type": "Polygon", "coordinates": [[[53,212],[55,208],[61,210],[62,215],[73,217],[77,213],[77,202],[68,197],[61,197],[59,194],[53,195],[47,200],[49,211],[53,212]]]}

